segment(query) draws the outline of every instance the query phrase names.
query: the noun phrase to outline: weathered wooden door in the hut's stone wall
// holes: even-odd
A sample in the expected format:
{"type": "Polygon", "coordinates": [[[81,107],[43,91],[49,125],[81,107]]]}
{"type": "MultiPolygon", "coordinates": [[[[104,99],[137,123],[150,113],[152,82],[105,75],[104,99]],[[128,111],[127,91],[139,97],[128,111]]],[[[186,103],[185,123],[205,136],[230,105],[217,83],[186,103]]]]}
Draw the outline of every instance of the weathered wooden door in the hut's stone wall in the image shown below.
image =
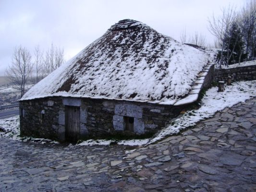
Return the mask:
{"type": "Polygon", "coordinates": [[[66,141],[77,142],[80,137],[80,107],[65,107],[66,141]]]}

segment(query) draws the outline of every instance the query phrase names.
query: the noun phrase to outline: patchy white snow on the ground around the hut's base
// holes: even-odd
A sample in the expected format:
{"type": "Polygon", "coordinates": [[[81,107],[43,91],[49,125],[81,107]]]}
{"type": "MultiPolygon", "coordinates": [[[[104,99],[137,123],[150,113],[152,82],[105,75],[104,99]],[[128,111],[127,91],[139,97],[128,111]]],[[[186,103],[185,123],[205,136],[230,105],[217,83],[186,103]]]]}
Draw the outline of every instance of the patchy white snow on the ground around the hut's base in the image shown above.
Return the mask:
{"type": "MultiPolygon", "coordinates": [[[[201,120],[212,117],[217,111],[223,110],[227,107],[244,102],[253,96],[256,96],[256,81],[241,81],[232,83],[230,86],[225,87],[224,92],[217,92],[218,87],[212,87],[207,90],[206,95],[201,100],[200,108],[196,110],[187,111],[181,118],[173,121],[172,125],[162,129],[159,134],[151,139],[143,140],[129,140],[129,141],[118,141],[117,144],[124,145],[142,145],[151,144],[163,139],[166,136],[177,134],[182,130],[195,125],[201,120]]],[[[23,140],[24,138],[19,137],[19,117],[14,117],[6,120],[0,120],[0,137],[9,137],[15,140],[23,140]]],[[[24,141],[28,139],[25,138],[24,141]]],[[[32,139],[32,141],[43,143],[49,140],[43,139],[32,139]]],[[[87,140],[77,145],[109,145],[111,140],[87,140]]],[[[76,145],[71,145],[76,146],[76,145]]]]}

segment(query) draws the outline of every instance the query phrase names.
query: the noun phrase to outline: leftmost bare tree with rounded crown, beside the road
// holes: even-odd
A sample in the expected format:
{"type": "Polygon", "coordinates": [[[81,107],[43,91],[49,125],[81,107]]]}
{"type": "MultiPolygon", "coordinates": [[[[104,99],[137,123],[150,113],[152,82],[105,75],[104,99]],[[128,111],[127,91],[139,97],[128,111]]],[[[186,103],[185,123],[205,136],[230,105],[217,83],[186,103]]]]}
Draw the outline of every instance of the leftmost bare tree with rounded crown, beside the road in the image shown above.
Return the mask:
{"type": "Polygon", "coordinates": [[[6,70],[14,87],[21,92],[21,97],[25,93],[25,85],[32,71],[30,52],[22,47],[15,47],[12,55],[12,65],[6,70]]]}

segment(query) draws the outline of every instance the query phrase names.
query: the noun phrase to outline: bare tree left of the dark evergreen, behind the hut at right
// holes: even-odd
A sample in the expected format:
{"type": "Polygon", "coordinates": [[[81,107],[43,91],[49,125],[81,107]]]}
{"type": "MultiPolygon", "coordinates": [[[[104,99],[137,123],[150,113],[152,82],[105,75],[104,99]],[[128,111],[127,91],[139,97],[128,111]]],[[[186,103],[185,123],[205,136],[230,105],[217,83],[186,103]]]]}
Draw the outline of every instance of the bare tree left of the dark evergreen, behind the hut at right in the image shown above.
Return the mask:
{"type": "Polygon", "coordinates": [[[229,6],[227,9],[223,8],[221,12],[222,15],[218,18],[213,14],[212,19],[208,19],[210,33],[216,36],[216,38],[221,42],[220,66],[223,64],[223,48],[230,24],[234,18],[235,10],[233,7],[229,6]]]}

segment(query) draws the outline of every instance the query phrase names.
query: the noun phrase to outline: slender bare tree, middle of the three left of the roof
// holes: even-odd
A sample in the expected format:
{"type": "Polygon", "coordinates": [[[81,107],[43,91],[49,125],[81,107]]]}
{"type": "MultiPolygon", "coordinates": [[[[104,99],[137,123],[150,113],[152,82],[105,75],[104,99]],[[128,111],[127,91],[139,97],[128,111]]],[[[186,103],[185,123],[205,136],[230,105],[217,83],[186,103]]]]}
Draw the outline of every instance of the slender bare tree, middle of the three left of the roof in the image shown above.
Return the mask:
{"type": "Polygon", "coordinates": [[[36,83],[38,83],[44,77],[44,68],[43,68],[43,53],[39,48],[39,45],[35,47],[34,50],[34,67],[36,73],[36,83]]]}

